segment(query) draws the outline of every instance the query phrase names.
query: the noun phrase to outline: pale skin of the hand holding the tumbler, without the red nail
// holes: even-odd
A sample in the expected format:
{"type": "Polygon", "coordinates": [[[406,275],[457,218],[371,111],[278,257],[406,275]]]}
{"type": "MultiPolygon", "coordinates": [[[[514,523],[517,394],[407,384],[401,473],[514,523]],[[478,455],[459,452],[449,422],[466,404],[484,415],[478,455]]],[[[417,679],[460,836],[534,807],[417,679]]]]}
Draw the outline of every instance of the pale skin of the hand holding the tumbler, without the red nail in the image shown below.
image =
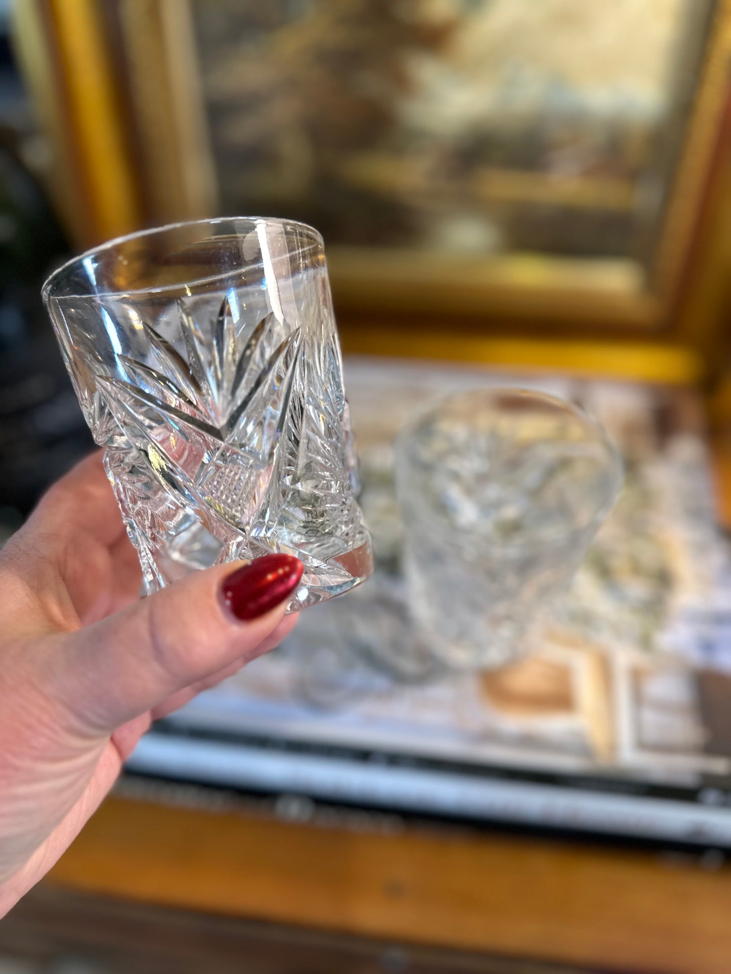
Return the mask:
{"type": "Polygon", "coordinates": [[[138,598],[101,466],[58,481],[0,552],[0,918],[54,865],[157,717],[272,649],[285,604],[240,621],[236,566],[138,598]]]}

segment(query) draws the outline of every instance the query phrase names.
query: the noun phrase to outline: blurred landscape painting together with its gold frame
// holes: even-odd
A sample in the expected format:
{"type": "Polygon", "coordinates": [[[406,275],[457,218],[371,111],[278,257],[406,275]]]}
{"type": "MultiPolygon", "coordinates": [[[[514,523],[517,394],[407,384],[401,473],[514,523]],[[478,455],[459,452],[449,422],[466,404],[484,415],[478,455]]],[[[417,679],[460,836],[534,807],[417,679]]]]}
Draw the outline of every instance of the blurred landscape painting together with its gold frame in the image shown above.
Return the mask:
{"type": "Polygon", "coordinates": [[[79,237],[289,215],[392,337],[717,340],[730,0],[19,8],[79,237]]]}

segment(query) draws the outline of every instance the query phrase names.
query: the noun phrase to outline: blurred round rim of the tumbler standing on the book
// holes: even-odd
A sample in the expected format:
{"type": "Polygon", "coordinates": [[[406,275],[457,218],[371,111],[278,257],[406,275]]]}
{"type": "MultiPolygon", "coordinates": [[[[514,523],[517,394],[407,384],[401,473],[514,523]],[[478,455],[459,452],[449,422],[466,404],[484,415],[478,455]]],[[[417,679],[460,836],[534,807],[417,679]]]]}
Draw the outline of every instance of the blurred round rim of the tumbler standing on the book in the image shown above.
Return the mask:
{"type": "MultiPolygon", "coordinates": [[[[526,551],[530,548],[542,549],[542,548],[552,548],[558,545],[566,543],[567,539],[576,537],[583,534],[593,525],[597,525],[597,528],[601,525],[604,518],[609,514],[609,511],[615,505],[617,498],[622,490],[624,482],[624,462],[622,455],[614,442],[612,437],[591,413],[588,413],[582,406],[576,402],[571,402],[568,399],[561,399],[558,395],[553,393],[545,393],[539,389],[526,389],[521,386],[487,386],[487,387],[476,387],[474,389],[467,390],[464,393],[446,393],[442,395],[436,401],[432,401],[424,407],[420,412],[418,412],[411,420],[406,423],[404,428],[399,432],[396,438],[396,480],[397,480],[397,496],[399,494],[399,481],[402,479],[399,470],[403,468],[404,459],[407,457],[406,444],[407,439],[412,435],[418,426],[424,422],[424,420],[430,416],[432,413],[437,412],[444,404],[448,402],[455,402],[459,399],[464,399],[469,395],[473,394],[485,394],[485,395],[500,395],[509,393],[515,395],[519,393],[520,395],[525,395],[530,398],[542,400],[543,402],[548,402],[551,405],[555,405],[561,408],[562,411],[567,412],[582,423],[590,426],[598,434],[598,438],[601,444],[604,446],[607,452],[607,457],[609,458],[611,464],[611,477],[606,489],[605,495],[602,497],[601,502],[596,505],[592,516],[587,518],[578,527],[573,527],[569,531],[565,532],[563,535],[557,535],[556,537],[531,539],[526,541],[509,541],[500,539],[485,539],[484,543],[488,544],[493,550],[505,551],[505,552],[519,552],[526,551]]],[[[401,498],[399,497],[399,503],[401,506],[401,498]]],[[[432,505],[425,505],[427,511],[434,511],[432,505]]],[[[430,530],[443,533],[443,526],[437,526],[432,522],[430,530]]],[[[453,540],[454,532],[446,531],[447,540],[453,540]]]]}

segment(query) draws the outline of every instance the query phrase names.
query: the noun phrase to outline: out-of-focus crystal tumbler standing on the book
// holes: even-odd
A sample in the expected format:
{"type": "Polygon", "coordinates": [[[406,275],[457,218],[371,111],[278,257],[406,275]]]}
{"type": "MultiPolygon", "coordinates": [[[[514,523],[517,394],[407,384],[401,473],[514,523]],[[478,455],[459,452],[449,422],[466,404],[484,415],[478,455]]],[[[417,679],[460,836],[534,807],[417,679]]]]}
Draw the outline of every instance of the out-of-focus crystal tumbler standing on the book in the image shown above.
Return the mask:
{"type": "Polygon", "coordinates": [[[571,580],[622,483],[611,440],[543,393],[442,400],[397,442],[410,607],[454,668],[521,656],[527,630],[571,580]]]}

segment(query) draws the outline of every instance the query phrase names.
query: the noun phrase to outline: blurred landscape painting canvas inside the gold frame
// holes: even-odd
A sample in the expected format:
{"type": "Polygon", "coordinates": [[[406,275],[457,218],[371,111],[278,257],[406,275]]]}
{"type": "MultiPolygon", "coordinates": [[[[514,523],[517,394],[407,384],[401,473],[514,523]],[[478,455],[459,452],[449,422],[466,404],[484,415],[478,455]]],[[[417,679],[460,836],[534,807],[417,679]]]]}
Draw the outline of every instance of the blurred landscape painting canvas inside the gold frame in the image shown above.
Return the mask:
{"type": "Polygon", "coordinates": [[[706,0],[192,0],[219,206],[327,244],[650,259],[706,0]]]}

